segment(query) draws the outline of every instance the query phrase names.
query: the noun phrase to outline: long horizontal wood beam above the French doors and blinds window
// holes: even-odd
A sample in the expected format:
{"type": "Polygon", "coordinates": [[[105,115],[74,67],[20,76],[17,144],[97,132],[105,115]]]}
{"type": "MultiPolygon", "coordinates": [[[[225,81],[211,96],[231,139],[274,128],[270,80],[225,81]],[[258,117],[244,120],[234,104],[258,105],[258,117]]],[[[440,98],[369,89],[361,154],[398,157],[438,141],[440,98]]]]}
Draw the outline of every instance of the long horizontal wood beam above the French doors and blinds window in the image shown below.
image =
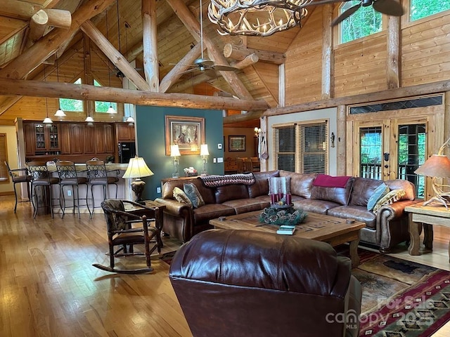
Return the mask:
{"type": "Polygon", "coordinates": [[[361,102],[370,104],[381,100],[396,100],[417,95],[429,95],[433,93],[444,93],[450,91],[450,81],[437,81],[430,84],[419,84],[417,86],[406,86],[404,88],[387,89],[376,93],[361,93],[359,95],[331,98],[329,100],[317,100],[316,102],[289,105],[288,107],[274,107],[264,112],[264,116],[276,116],[278,114],[290,114],[293,112],[304,112],[327,107],[338,107],[339,105],[353,105],[361,102]]]}

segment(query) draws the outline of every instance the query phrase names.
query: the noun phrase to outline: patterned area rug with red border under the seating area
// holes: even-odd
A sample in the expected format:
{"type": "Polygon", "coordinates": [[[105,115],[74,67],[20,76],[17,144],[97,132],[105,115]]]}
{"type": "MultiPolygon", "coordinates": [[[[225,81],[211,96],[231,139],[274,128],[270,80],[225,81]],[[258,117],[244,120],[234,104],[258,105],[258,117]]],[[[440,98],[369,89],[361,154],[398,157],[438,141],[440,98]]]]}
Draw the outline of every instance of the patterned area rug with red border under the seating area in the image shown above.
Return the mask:
{"type": "MultiPolygon", "coordinates": [[[[338,247],[347,255],[348,246],[338,247]]],[[[450,320],[450,272],[358,249],[359,337],[428,337],[450,320]]],[[[175,252],[161,259],[170,264],[175,252]]]]}

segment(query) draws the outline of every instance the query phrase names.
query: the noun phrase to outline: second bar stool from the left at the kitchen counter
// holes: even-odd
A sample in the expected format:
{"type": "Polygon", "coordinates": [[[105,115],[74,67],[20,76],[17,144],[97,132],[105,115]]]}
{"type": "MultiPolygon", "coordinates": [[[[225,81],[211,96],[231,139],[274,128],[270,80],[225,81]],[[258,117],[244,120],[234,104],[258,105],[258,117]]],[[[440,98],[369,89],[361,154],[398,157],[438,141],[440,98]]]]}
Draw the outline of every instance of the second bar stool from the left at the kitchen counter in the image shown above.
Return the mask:
{"type": "Polygon", "coordinates": [[[31,189],[32,196],[31,202],[34,209],[33,218],[36,218],[37,210],[39,207],[47,207],[46,200],[50,201],[50,213],[53,218],[53,200],[59,200],[59,206],[61,206],[60,197],[58,199],[53,198],[52,186],[58,185],[59,179],[56,177],[52,177],[49,169],[47,168],[46,161],[29,161],[27,163],[28,172],[30,172],[31,180],[31,189]],[[42,187],[42,194],[44,197],[42,198],[40,195],[37,195],[36,187],[42,187]],[[46,188],[47,186],[47,188],[46,188]],[[49,198],[47,197],[47,190],[49,191],[49,198]],[[36,204],[34,204],[34,198],[36,199],[36,204]],[[44,201],[44,205],[39,206],[39,199],[44,201]]]}

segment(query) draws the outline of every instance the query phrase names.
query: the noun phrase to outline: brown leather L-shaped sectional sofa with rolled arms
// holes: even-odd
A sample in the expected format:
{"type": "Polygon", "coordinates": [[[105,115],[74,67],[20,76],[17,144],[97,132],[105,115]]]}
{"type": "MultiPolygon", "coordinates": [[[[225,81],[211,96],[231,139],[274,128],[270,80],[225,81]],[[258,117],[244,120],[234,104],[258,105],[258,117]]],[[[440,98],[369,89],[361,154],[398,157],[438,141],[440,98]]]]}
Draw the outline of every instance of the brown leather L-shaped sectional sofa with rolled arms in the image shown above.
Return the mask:
{"type": "Polygon", "coordinates": [[[404,208],[417,201],[416,187],[407,180],[387,180],[391,190],[403,189],[406,194],[400,201],[384,205],[374,214],[367,210],[368,199],[380,180],[353,177],[342,195],[336,190],[313,192],[316,173],[293,173],[289,171],[255,172],[252,185],[226,185],[205,187],[200,178],[170,180],[162,187],[162,197],[155,199],[165,204],[164,232],[181,242],[188,242],[193,235],[211,228],[209,221],[219,216],[231,216],[250,211],[259,211],[270,205],[269,177],[290,177],[290,192],[295,207],[307,212],[323,213],[339,218],[354,218],[366,223],[361,230],[361,242],[378,246],[386,253],[392,246],[409,240],[408,216],[404,208]],[[183,190],[184,183],[193,183],[202,195],[205,205],[192,209],[174,199],[174,187],[183,190]],[[331,198],[330,198],[331,197],[331,198]],[[330,201],[337,199],[340,202],[330,201]],[[342,201],[343,200],[343,201],[342,201]]]}

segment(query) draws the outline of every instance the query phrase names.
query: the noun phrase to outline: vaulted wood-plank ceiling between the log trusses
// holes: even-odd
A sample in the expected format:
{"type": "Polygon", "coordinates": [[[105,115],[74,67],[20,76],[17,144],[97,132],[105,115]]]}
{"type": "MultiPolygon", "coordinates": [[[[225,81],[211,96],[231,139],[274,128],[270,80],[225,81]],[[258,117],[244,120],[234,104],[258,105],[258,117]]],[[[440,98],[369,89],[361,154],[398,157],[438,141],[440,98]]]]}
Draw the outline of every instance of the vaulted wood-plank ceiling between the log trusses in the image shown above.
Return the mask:
{"type": "MultiPolygon", "coordinates": [[[[137,68],[143,67],[143,19],[141,4],[149,0],[5,0],[0,6],[0,77],[26,79],[26,80],[44,80],[44,72],[46,71],[45,81],[65,81],[72,83],[77,77],[96,78],[103,80],[103,86],[122,87],[122,83],[118,77],[115,77],[117,71],[116,63],[108,60],[108,53],[102,46],[98,46],[94,41],[89,42],[89,64],[86,65],[86,29],[74,29],[72,34],[67,35],[67,39],[58,45],[56,53],[49,52],[41,64],[36,66],[28,64],[21,60],[21,64],[15,66],[14,71],[9,71],[15,61],[20,60],[20,55],[29,52],[30,48],[37,46],[41,40],[50,37],[54,29],[64,34],[65,27],[46,26],[43,32],[44,36],[36,38],[36,26],[33,25],[33,15],[41,10],[59,9],[69,11],[72,15],[72,27],[81,25],[82,22],[89,20],[98,29],[99,32],[108,39],[113,47],[124,55],[127,61],[136,61],[137,68]],[[83,11],[90,4],[95,4],[99,8],[102,6],[105,10],[100,11],[91,18],[86,15],[79,16],[76,13],[83,11]],[[106,6],[105,6],[106,5],[106,6]],[[117,11],[118,10],[118,11],[117,11]],[[77,22],[74,22],[74,20],[77,22]],[[30,25],[30,21],[32,24],[30,25]],[[83,32],[84,31],[84,32],[83,32]],[[56,61],[58,59],[58,61],[56,61]],[[46,70],[44,65],[46,64],[46,70]],[[57,67],[57,68],[56,68],[57,67]],[[55,71],[57,70],[57,72],[55,71]],[[17,75],[18,74],[18,75],[17,75]],[[113,74],[113,76],[111,76],[113,74]],[[24,75],[24,76],[22,76],[24,75]],[[106,82],[106,84],[105,84],[106,82]]],[[[284,53],[290,46],[291,41],[296,37],[300,28],[295,27],[285,32],[278,32],[271,37],[231,37],[221,36],[216,30],[216,25],[207,19],[207,5],[209,1],[203,3],[203,42],[211,48],[205,49],[205,58],[211,58],[217,62],[217,53],[221,54],[230,65],[236,65],[243,58],[242,55],[232,54],[233,58],[225,58],[224,46],[226,44],[237,46],[244,49],[245,53],[256,51],[259,60],[255,63],[249,63],[242,69],[235,72],[226,72],[236,74],[237,80],[243,85],[243,91],[239,93],[233,82],[224,79],[224,72],[216,72],[215,76],[211,74],[203,74],[200,70],[187,72],[176,78],[176,81],[165,91],[166,93],[199,93],[195,91],[195,87],[199,84],[211,86],[215,95],[239,97],[242,92],[248,91],[250,96],[246,97],[250,100],[264,100],[267,107],[278,106],[278,68],[280,60],[283,60],[284,53]],[[206,42],[211,41],[208,45],[206,42]]],[[[187,6],[193,18],[198,24],[200,13],[200,2],[198,0],[156,0],[156,18],[158,22],[158,77],[159,81],[165,79],[175,65],[180,65],[180,61],[186,56],[191,49],[199,44],[198,36],[195,31],[195,24],[187,24],[180,19],[182,15],[181,9],[187,6]],[[171,6],[172,4],[172,6],[171,6]],[[177,13],[172,7],[178,6],[177,13]],[[181,9],[180,9],[181,8],[181,9]],[[181,13],[181,15],[180,15],[181,13]],[[186,27],[188,26],[188,27],[186,27]]],[[[311,11],[311,9],[310,9],[311,11]]],[[[91,12],[86,12],[91,13],[91,12]]],[[[188,15],[184,15],[186,19],[188,15]]],[[[84,27],[84,26],[83,26],[84,27]]],[[[68,29],[70,31],[70,29],[68,29]]],[[[43,48],[48,47],[51,42],[39,44],[40,48],[34,53],[39,53],[43,48]],[[41,47],[43,46],[43,48],[41,47]]],[[[200,49],[200,48],[198,48],[200,49]]],[[[49,48],[50,50],[50,48],[49,48]]],[[[32,55],[34,55],[34,53],[32,55]]],[[[199,55],[195,56],[198,58],[199,55]]],[[[194,58],[194,59],[195,59],[194,58]]],[[[258,58],[256,58],[258,59],[258,58]]],[[[183,61],[181,61],[183,62],[183,61]]],[[[16,62],[17,63],[17,62],[16,62]]],[[[190,65],[192,62],[189,63],[190,65]]],[[[181,64],[182,65],[182,64],[181,64]]],[[[186,65],[184,65],[186,66],[186,65]]],[[[144,76],[143,72],[140,72],[144,76]]],[[[214,75],[214,74],[213,74],[214,75]]],[[[1,80],[1,79],[0,79],[1,80]]],[[[235,82],[236,83],[236,82],[235,82]]],[[[201,89],[200,89],[201,91],[201,89]]],[[[211,93],[211,92],[210,92],[211,93]]],[[[210,93],[200,92],[201,95],[210,93]]],[[[243,98],[243,97],[240,97],[243,98]]],[[[0,96],[0,114],[11,107],[14,99],[11,96],[0,96]]],[[[17,102],[17,100],[15,101],[17,102]]],[[[15,104],[15,102],[13,104],[15,104]]],[[[231,113],[239,114],[240,111],[231,113]]],[[[259,123],[255,120],[252,123],[240,121],[241,126],[254,126],[259,123]]],[[[239,124],[236,124],[239,125],[239,124]]]]}

